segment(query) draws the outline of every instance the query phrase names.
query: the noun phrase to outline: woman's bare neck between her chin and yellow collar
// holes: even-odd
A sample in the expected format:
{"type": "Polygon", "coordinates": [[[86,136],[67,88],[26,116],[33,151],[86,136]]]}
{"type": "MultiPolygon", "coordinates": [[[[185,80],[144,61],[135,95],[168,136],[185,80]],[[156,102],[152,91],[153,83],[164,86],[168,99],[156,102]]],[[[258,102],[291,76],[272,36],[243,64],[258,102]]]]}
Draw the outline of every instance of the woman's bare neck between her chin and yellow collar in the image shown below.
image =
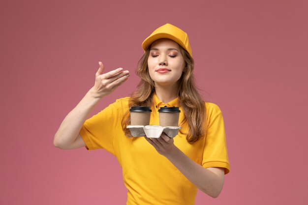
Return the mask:
{"type": "Polygon", "coordinates": [[[168,103],[178,97],[178,85],[161,86],[155,84],[155,93],[163,103],[168,103]]]}

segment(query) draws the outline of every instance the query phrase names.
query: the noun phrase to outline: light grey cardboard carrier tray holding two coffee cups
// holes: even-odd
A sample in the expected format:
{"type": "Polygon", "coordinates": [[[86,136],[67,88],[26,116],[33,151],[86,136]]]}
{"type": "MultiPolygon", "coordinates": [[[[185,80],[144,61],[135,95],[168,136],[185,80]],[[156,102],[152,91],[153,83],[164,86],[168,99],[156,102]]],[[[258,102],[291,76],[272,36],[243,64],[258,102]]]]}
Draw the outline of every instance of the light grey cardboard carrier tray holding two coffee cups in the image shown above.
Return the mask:
{"type": "Polygon", "coordinates": [[[159,138],[161,133],[164,132],[168,137],[174,138],[179,133],[181,127],[162,127],[159,125],[128,125],[127,128],[133,137],[159,138]]]}

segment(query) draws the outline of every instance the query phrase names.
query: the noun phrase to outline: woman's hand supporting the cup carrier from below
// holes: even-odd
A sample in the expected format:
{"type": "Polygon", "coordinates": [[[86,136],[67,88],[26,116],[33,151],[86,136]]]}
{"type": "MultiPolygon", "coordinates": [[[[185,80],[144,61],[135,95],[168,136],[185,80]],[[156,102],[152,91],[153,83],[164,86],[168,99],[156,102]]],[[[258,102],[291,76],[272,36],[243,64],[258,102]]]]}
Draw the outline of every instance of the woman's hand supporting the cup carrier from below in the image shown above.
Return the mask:
{"type": "Polygon", "coordinates": [[[164,156],[170,153],[175,147],[173,144],[173,138],[168,137],[164,132],[161,133],[159,138],[145,138],[151,145],[154,146],[159,154],[164,156]]]}

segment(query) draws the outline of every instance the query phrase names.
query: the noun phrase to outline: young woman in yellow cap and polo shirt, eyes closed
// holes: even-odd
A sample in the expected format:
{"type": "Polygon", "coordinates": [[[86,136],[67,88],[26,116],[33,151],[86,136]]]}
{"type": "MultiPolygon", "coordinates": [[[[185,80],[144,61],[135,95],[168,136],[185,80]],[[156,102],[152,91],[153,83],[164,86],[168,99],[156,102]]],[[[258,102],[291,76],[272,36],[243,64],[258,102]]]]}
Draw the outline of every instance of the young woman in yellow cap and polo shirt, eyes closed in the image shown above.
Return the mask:
{"type": "Polygon", "coordinates": [[[94,86],[64,118],[54,139],[62,149],[104,148],[123,168],[127,205],[193,205],[197,188],[216,198],[229,172],[223,117],[204,102],[193,82],[193,59],[187,34],[166,24],[143,42],[145,54],[131,97],[87,119],[93,107],[129,77],[122,68],[103,73],[99,62],[94,86]],[[131,137],[131,106],[150,106],[150,124],[158,125],[160,107],[180,107],[179,134],[169,138],[131,137]],[[86,120],[87,119],[87,120],[86,120]]]}

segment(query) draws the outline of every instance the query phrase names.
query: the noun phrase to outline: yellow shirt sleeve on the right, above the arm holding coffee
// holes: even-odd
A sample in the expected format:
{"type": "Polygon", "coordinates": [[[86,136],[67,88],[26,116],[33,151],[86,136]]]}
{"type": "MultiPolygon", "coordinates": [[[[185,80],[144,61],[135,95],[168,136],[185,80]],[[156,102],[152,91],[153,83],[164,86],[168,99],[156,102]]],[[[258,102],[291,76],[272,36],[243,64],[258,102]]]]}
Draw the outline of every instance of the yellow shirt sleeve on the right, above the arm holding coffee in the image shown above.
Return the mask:
{"type": "Polygon", "coordinates": [[[207,131],[203,150],[202,166],[220,167],[225,174],[230,172],[226,135],[222,113],[214,103],[206,103],[207,131]]]}

